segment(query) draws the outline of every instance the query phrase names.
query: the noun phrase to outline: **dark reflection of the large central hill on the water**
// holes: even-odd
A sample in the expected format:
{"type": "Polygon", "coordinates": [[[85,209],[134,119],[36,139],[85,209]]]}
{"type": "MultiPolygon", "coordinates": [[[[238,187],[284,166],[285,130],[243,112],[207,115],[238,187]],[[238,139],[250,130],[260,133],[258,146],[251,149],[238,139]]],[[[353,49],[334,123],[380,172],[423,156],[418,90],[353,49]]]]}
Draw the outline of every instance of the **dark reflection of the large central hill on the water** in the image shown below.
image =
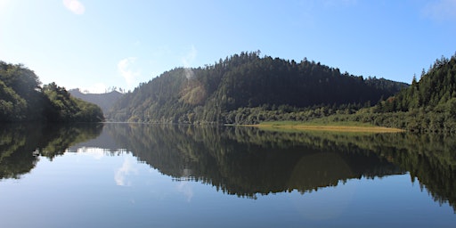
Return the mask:
{"type": "Polygon", "coordinates": [[[313,191],[350,178],[402,173],[373,153],[327,149],[256,129],[143,125],[106,129],[160,172],[211,183],[240,196],[313,191]]]}

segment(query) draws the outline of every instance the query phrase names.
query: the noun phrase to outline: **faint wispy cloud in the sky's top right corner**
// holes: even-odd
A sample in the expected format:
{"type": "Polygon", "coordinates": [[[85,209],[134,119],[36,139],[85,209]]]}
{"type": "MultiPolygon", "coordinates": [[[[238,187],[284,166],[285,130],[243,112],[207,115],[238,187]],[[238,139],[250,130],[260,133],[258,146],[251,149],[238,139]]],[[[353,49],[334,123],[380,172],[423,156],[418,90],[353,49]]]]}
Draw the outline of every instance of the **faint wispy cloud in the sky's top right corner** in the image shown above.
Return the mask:
{"type": "Polygon", "coordinates": [[[434,20],[456,20],[456,0],[436,0],[425,6],[425,16],[434,20]]]}

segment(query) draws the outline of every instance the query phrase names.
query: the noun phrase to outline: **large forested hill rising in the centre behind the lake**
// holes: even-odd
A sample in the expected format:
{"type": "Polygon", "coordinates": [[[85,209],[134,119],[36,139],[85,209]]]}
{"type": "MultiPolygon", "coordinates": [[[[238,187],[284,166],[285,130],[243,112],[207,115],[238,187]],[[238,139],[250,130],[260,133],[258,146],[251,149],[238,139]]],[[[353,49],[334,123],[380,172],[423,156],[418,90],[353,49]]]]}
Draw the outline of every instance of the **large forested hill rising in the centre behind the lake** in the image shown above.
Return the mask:
{"type": "MultiPolygon", "coordinates": [[[[204,68],[177,68],[124,95],[114,121],[242,123],[243,109],[371,106],[407,84],[341,73],[314,61],[234,54],[204,68]]],[[[258,118],[256,121],[261,120],[258,118]]],[[[251,121],[250,121],[251,122],[251,121]]]]}

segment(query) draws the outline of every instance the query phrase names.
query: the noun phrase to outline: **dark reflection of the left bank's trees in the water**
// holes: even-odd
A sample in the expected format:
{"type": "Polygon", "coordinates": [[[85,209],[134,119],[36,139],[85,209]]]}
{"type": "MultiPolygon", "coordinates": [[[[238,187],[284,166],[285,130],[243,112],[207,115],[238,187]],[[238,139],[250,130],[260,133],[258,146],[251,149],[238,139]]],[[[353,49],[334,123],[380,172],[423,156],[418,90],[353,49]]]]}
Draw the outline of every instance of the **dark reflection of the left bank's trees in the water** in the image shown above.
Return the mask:
{"type": "Polygon", "coordinates": [[[37,164],[37,155],[53,159],[70,145],[96,137],[102,125],[2,125],[0,179],[20,178],[37,164]]]}

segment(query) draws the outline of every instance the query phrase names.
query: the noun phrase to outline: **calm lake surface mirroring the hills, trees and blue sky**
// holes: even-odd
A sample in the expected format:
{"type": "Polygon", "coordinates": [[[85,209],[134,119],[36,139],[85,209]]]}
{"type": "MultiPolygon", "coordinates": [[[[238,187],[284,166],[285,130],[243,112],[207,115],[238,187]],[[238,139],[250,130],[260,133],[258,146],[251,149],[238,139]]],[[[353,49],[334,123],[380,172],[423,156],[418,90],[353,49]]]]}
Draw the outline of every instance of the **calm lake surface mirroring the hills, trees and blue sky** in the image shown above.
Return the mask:
{"type": "Polygon", "coordinates": [[[0,227],[456,227],[453,136],[1,126],[0,227]]]}

